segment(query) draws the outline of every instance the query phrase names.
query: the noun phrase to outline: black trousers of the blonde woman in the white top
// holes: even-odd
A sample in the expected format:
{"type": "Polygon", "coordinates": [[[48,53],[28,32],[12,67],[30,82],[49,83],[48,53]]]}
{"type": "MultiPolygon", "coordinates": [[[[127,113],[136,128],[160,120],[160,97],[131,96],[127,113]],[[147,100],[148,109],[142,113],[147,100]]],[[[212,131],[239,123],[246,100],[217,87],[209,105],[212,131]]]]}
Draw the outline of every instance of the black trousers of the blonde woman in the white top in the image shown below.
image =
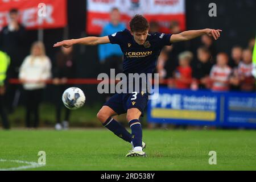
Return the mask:
{"type": "Polygon", "coordinates": [[[25,90],[24,93],[26,95],[26,127],[36,128],[39,125],[39,105],[43,89],[25,90]]]}

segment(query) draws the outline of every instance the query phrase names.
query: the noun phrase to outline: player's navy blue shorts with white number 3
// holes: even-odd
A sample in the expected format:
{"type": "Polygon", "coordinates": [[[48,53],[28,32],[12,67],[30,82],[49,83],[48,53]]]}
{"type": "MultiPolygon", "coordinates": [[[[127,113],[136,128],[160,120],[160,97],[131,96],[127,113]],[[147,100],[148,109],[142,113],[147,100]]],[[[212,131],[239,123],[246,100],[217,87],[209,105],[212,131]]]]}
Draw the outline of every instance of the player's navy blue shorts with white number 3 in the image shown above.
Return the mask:
{"type": "Polygon", "coordinates": [[[137,108],[144,115],[144,109],[147,106],[148,93],[117,93],[114,94],[104,105],[109,106],[118,115],[127,113],[128,109],[137,108]]]}

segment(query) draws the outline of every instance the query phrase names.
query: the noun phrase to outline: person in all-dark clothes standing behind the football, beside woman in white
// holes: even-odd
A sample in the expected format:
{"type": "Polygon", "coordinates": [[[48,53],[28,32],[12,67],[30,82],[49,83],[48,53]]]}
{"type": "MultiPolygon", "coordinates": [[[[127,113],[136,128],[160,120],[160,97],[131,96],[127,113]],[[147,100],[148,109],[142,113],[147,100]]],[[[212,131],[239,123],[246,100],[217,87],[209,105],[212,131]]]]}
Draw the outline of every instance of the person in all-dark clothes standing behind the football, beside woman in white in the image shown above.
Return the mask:
{"type": "Polygon", "coordinates": [[[53,69],[53,84],[56,85],[55,91],[55,105],[56,105],[56,130],[68,129],[69,117],[71,110],[64,107],[65,117],[61,123],[61,109],[63,109],[63,103],[61,101],[61,95],[65,89],[69,88],[67,85],[67,79],[74,78],[76,74],[76,64],[74,59],[73,47],[64,48],[61,47],[60,52],[56,54],[56,65],[53,69]],[[61,125],[62,124],[62,125],[61,125]]]}

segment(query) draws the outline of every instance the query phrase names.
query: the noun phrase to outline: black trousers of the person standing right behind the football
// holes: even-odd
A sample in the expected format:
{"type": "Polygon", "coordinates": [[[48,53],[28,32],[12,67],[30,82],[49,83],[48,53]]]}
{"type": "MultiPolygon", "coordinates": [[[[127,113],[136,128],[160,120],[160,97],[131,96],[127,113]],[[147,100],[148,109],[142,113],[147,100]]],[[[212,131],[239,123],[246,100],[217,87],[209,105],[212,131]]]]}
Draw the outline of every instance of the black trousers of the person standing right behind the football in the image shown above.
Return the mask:
{"type": "Polygon", "coordinates": [[[71,110],[63,105],[62,94],[65,89],[71,87],[71,85],[57,85],[55,86],[55,106],[56,106],[56,123],[61,122],[61,110],[64,109],[64,121],[69,121],[71,110]]]}

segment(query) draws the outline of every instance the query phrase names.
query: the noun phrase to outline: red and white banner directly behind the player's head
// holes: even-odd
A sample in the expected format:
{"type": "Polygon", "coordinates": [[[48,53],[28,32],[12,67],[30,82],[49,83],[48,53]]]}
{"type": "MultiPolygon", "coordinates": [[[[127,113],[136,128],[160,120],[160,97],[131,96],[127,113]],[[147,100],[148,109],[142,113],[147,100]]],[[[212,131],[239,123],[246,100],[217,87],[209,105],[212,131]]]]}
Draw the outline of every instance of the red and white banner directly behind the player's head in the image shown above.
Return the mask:
{"type": "Polygon", "coordinates": [[[87,0],[87,33],[100,34],[109,22],[109,13],[117,7],[122,22],[128,26],[135,14],[144,15],[149,22],[159,23],[160,32],[170,32],[171,22],[185,30],[185,0],[87,0]]]}

